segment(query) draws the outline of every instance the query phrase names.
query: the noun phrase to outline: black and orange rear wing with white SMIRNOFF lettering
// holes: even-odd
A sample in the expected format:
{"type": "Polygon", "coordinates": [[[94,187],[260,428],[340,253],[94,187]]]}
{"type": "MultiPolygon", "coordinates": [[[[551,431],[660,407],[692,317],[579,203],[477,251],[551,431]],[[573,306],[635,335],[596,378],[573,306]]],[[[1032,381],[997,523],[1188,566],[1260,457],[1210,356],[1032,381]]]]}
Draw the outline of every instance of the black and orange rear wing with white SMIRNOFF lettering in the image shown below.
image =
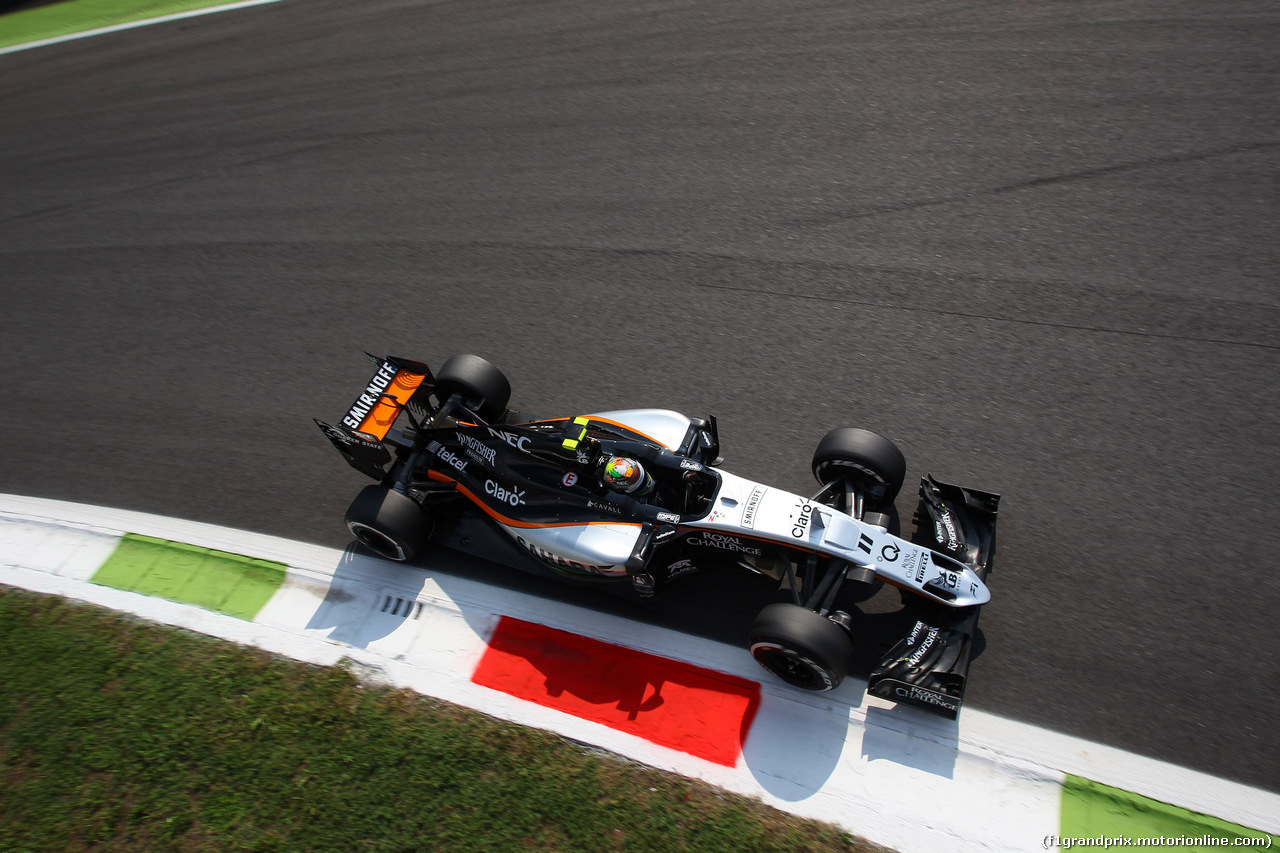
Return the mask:
{"type": "Polygon", "coordinates": [[[378,365],[378,370],[342,421],[334,425],[316,420],[316,425],[352,467],[381,480],[387,462],[390,461],[383,439],[415,394],[430,393],[435,387],[435,377],[430,368],[417,361],[392,356],[369,357],[378,365]]]}

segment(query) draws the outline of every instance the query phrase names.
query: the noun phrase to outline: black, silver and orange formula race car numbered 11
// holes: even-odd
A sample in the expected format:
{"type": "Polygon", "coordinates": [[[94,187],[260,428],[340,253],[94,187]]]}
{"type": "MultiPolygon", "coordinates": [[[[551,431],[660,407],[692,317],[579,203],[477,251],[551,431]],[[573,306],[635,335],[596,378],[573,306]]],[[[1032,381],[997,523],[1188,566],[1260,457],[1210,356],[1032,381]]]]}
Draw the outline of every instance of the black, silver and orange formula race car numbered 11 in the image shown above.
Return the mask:
{"type": "Polygon", "coordinates": [[[750,630],[755,660],[783,681],[831,690],[852,657],[846,584],[909,593],[910,631],[868,692],[954,719],[995,551],[1000,497],[920,482],[913,540],[888,532],[906,475],[901,451],[864,429],[829,432],[813,455],[813,497],[717,466],[716,419],[660,409],[534,419],[484,359],[425,364],[370,356],[374,378],[338,424],[316,420],[378,480],[347,510],[369,549],[413,560],[429,539],[494,562],[653,601],[681,575],[768,575],[790,601],[750,630]],[[407,424],[396,428],[401,415],[407,424]]]}

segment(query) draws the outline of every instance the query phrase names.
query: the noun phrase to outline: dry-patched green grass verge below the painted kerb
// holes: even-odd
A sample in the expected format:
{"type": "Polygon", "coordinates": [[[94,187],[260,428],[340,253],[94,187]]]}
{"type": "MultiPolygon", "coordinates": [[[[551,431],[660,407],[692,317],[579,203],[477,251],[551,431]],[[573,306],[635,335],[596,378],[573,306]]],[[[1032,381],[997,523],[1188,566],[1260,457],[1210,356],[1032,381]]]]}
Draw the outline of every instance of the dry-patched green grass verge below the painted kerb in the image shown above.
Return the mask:
{"type": "Polygon", "coordinates": [[[0,850],[872,850],[347,669],[0,588],[0,850]]]}

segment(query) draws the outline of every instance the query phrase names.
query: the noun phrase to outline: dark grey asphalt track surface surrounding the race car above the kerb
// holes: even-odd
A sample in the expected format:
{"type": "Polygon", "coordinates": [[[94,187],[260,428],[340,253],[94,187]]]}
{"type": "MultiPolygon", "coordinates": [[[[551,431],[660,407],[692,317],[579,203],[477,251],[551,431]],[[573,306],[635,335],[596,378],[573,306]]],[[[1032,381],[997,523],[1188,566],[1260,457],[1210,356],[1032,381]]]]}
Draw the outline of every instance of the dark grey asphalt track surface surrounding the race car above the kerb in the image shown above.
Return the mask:
{"type": "MultiPolygon", "coordinates": [[[[362,350],[716,414],[805,493],[868,426],[1004,494],[969,704],[1277,790],[1277,44],[1271,3],[285,0],[0,56],[0,491],[340,547],[310,419],[362,350]]],[[[759,590],[695,585],[641,617],[741,640],[759,590]]]]}

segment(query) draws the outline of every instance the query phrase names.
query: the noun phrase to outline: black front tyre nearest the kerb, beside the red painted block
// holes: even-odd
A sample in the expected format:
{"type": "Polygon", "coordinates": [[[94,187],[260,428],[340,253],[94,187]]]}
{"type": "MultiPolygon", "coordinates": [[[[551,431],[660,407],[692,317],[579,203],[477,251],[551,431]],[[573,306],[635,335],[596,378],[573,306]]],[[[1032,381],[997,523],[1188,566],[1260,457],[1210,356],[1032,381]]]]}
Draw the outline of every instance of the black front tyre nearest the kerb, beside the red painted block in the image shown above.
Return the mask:
{"type": "Polygon", "coordinates": [[[755,662],[801,690],[833,690],[849,672],[854,644],[840,625],[799,605],[769,605],[749,635],[755,662]]]}

